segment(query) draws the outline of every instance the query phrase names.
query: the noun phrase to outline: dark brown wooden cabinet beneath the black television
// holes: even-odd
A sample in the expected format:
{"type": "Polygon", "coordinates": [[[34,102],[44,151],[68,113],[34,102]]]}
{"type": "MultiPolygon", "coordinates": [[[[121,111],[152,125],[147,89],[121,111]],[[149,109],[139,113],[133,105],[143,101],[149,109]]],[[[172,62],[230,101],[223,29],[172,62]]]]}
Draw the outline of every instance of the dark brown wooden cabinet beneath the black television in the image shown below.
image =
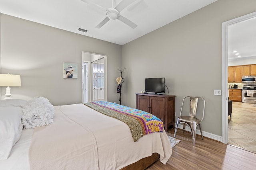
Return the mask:
{"type": "Polygon", "coordinates": [[[164,123],[167,132],[175,123],[175,97],[158,94],[136,94],[136,109],[155,115],[164,123]]]}

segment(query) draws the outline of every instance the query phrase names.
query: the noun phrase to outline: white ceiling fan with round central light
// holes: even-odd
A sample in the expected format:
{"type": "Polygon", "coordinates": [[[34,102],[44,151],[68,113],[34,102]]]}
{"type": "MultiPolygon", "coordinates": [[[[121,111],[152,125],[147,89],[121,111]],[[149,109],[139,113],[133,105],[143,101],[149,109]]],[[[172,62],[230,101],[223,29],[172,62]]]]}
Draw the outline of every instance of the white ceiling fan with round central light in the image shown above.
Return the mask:
{"type": "Polygon", "coordinates": [[[106,11],[106,18],[104,18],[104,20],[102,20],[95,28],[101,28],[110,19],[111,20],[116,20],[116,19],[120,20],[132,28],[137,27],[137,25],[134,22],[132,22],[132,21],[128,20],[127,18],[125,18],[124,16],[120,15],[120,12],[124,8],[126,8],[127,6],[132,4],[132,2],[134,2],[135,0],[122,0],[115,8],[114,8],[114,0],[112,0],[112,8],[108,8],[107,10],[98,4],[94,4],[90,0],[82,0],[82,1],[87,4],[90,4],[91,6],[94,6],[95,8],[101,8],[102,10],[106,11]]]}

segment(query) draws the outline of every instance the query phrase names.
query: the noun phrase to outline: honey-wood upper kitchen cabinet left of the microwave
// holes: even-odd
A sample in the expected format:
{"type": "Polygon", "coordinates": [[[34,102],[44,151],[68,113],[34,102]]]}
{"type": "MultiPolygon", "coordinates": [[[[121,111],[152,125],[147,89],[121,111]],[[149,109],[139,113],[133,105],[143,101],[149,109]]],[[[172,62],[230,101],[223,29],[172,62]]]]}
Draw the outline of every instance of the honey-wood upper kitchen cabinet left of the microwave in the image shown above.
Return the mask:
{"type": "Polygon", "coordinates": [[[228,82],[242,82],[242,66],[228,67],[228,82]]]}

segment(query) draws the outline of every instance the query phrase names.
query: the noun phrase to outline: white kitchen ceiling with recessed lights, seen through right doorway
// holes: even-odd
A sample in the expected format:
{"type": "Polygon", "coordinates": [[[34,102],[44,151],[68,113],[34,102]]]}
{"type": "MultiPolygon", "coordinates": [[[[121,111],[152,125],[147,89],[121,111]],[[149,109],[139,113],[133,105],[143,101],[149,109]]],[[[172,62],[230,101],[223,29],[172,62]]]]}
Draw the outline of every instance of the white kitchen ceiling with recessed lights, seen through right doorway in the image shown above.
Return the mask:
{"type": "Polygon", "coordinates": [[[228,25],[228,59],[244,57],[256,57],[256,17],[228,25]]]}

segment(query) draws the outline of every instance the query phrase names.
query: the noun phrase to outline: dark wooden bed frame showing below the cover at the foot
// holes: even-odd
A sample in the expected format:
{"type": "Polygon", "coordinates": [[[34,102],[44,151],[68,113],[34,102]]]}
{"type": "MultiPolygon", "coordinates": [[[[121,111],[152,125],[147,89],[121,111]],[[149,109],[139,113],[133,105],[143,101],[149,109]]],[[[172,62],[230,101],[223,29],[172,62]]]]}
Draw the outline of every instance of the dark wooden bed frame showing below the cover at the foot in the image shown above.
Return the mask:
{"type": "Polygon", "coordinates": [[[156,162],[159,158],[160,156],[158,153],[153,153],[151,156],[142,158],[141,160],[138,160],[137,162],[122,168],[121,170],[144,170],[156,162]]]}

